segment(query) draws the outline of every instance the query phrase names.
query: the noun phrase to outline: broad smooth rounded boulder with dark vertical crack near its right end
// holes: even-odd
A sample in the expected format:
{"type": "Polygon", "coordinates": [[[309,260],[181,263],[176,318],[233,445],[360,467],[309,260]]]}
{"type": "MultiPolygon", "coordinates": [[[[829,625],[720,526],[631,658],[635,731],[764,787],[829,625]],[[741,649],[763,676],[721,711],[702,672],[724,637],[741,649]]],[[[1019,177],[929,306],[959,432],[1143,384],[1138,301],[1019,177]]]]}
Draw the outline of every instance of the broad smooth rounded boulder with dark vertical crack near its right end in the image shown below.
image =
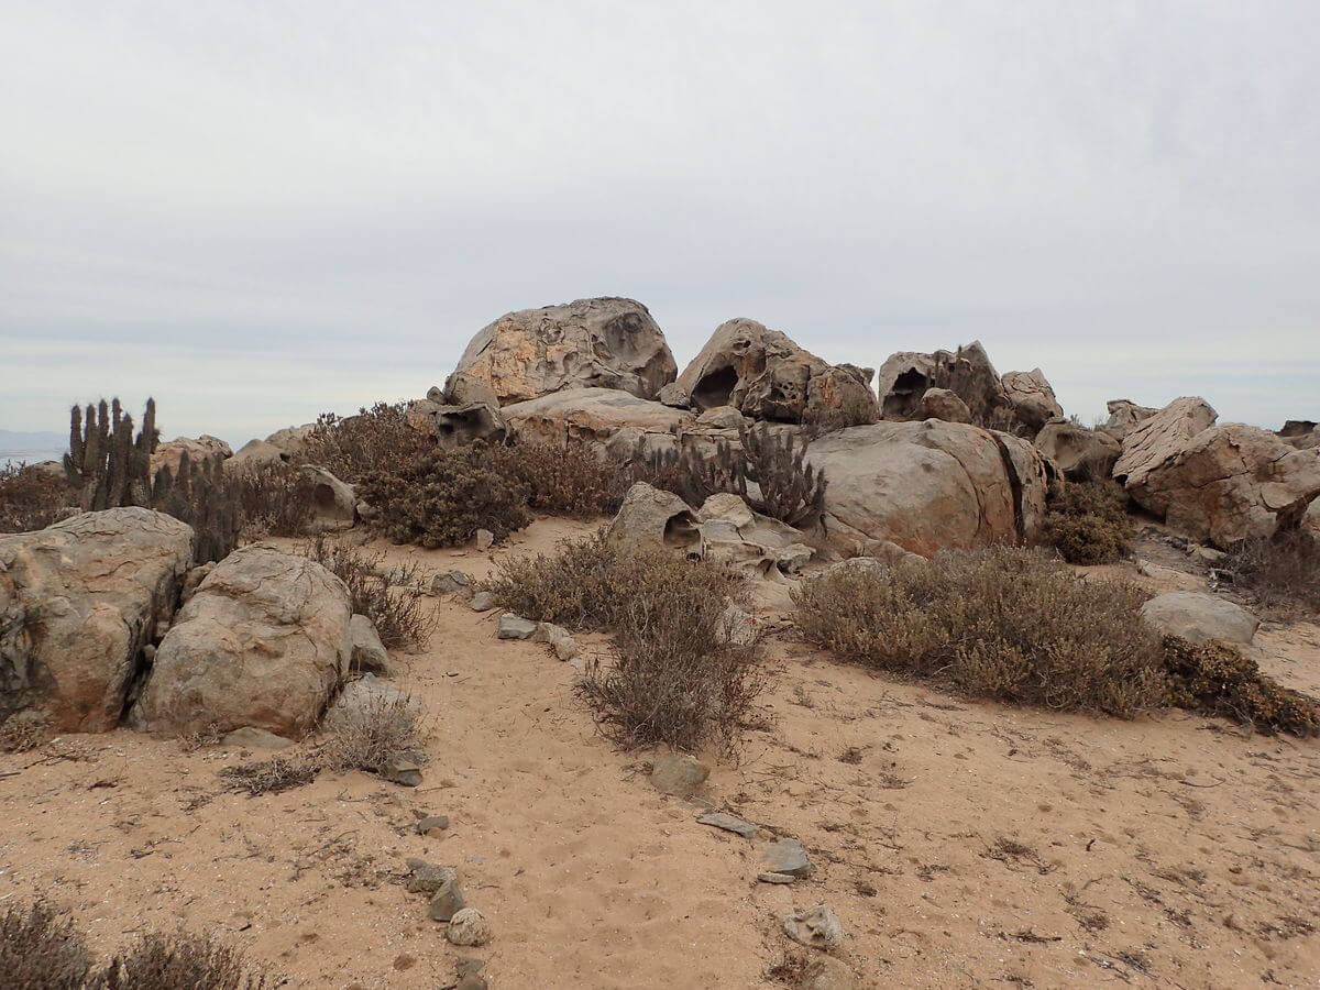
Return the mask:
{"type": "Polygon", "coordinates": [[[931,556],[1031,539],[1049,469],[1026,441],[958,422],[876,422],[812,441],[825,471],[829,544],[845,553],[931,556]]]}

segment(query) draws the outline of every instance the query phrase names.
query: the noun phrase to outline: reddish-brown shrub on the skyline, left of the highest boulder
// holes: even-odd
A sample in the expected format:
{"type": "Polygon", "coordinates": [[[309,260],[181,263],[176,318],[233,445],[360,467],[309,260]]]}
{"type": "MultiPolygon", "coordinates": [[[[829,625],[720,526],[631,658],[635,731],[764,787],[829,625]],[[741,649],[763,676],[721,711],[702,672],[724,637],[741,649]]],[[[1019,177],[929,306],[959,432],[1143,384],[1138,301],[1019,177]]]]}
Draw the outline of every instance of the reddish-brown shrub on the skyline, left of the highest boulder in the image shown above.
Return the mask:
{"type": "Polygon", "coordinates": [[[434,449],[434,438],[408,425],[408,403],[376,403],[356,416],[321,413],[302,440],[300,461],[350,484],[389,471],[434,449]]]}

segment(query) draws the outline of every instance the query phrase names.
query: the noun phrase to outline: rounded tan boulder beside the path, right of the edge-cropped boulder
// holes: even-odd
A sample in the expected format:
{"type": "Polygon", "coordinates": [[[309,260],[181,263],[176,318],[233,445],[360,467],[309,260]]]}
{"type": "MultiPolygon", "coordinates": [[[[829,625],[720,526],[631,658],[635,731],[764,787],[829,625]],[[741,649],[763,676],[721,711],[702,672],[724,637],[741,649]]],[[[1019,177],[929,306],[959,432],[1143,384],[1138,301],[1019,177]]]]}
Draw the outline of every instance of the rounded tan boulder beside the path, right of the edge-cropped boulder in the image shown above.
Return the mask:
{"type": "Polygon", "coordinates": [[[348,669],[351,615],[348,589],[315,561],[261,545],[235,550],[180,609],[133,723],[302,738],[348,669]]]}

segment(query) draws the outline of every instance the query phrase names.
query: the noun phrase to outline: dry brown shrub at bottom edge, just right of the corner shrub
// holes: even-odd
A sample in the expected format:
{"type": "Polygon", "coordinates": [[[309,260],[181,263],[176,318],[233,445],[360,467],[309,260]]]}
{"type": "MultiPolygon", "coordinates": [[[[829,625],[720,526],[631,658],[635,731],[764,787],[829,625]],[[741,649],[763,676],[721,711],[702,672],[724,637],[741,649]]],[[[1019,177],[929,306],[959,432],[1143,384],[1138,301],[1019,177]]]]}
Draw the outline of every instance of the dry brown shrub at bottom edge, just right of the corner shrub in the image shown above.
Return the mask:
{"type": "Polygon", "coordinates": [[[265,990],[275,982],[207,935],[149,932],[102,977],[104,990],[265,990]]]}

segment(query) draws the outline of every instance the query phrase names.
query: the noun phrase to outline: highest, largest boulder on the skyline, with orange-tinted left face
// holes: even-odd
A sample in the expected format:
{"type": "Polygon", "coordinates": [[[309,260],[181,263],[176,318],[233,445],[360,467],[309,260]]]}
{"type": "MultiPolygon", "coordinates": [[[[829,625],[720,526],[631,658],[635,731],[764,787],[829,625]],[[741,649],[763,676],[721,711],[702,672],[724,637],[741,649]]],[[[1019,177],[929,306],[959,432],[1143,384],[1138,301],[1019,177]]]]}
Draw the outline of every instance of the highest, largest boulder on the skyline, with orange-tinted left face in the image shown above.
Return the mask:
{"type": "Polygon", "coordinates": [[[640,302],[578,300],[507,313],[471,339],[445,384],[487,384],[500,405],[564,388],[618,388],[655,399],[677,366],[664,334],[640,302]]]}

